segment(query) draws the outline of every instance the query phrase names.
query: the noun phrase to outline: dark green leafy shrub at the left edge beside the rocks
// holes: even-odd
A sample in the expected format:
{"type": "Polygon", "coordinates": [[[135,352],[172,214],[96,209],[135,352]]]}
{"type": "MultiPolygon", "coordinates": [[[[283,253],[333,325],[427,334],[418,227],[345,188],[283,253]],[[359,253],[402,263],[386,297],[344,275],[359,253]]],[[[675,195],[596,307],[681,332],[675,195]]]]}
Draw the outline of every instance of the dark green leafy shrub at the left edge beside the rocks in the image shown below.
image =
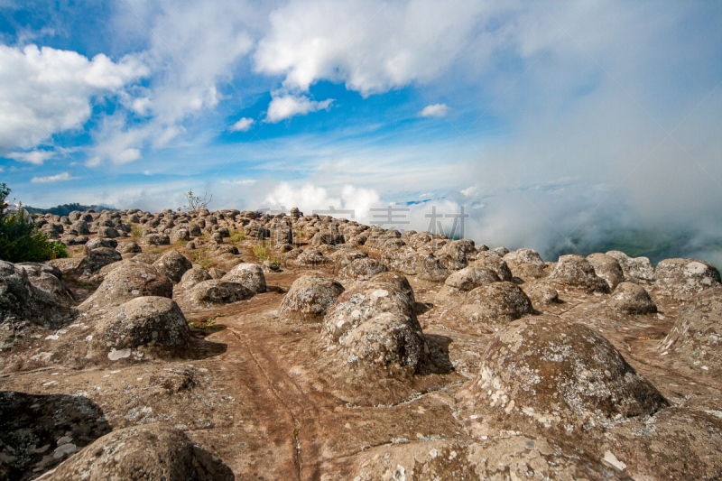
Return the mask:
{"type": "Polygon", "coordinates": [[[10,189],[0,184],[0,260],[11,263],[44,262],[68,257],[65,245],[52,242],[32,222],[25,209],[9,213],[5,211],[5,199],[10,189]]]}

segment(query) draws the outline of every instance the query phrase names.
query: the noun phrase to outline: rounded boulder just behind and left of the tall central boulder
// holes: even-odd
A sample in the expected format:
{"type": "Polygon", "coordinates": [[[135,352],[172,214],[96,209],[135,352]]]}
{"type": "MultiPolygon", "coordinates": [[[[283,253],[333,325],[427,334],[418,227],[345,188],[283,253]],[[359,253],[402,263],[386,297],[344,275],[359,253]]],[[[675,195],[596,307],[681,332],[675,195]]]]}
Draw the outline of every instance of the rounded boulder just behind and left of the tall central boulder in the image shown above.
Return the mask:
{"type": "Polygon", "coordinates": [[[344,287],[330,277],[305,274],[291,284],[279,312],[290,319],[319,322],[343,291],[344,287]]]}

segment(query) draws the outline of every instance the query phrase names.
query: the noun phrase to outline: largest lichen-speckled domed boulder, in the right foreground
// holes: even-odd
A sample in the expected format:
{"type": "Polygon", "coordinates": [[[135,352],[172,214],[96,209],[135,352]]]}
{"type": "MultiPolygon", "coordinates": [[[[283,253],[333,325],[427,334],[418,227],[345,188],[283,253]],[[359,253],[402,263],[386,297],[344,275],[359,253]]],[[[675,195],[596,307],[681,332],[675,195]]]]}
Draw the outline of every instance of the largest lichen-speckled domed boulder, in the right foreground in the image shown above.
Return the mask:
{"type": "Polygon", "coordinates": [[[500,329],[474,381],[458,393],[490,430],[587,436],[669,406],[597,332],[551,317],[500,329]]]}

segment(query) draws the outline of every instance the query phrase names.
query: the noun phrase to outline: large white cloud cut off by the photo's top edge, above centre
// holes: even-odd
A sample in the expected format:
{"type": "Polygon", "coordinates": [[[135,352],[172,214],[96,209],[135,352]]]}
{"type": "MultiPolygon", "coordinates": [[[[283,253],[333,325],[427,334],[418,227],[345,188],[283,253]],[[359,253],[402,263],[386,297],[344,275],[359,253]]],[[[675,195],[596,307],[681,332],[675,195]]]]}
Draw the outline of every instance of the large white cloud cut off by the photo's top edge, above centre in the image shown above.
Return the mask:
{"type": "Polygon", "coordinates": [[[271,14],[255,68],[284,75],[290,89],[329,79],[368,96],[438,77],[484,33],[491,14],[509,8],[466,0],[292,0],[271,14]]]}

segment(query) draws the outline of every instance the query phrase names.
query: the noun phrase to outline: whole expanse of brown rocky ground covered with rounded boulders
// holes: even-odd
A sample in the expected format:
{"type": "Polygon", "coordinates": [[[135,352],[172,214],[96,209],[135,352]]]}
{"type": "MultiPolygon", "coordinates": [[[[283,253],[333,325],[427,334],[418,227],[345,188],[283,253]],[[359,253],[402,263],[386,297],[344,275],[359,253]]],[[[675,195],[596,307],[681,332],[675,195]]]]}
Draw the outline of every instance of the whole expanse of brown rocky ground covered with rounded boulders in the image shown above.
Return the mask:
{"type": "Polygon", "coordinates": [[[201,209],[0,262],[0,479],[720,479],[710,264],[201,209]]]}

